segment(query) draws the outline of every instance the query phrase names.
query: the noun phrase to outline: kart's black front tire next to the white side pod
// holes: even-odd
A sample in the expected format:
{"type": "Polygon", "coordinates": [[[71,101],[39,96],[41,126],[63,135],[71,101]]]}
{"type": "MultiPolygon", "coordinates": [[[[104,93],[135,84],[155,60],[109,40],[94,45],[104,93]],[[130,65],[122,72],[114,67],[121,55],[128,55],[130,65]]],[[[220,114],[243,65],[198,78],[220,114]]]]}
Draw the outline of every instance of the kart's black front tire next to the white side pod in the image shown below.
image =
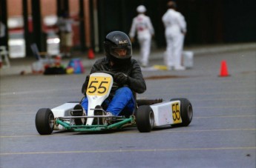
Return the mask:
{"type": "Polygon", "coordinates": [[[135,117],[137,129],[140,132],[151,132],[154,127],[154,112],[150,106],[140,106],[135,117]]]}

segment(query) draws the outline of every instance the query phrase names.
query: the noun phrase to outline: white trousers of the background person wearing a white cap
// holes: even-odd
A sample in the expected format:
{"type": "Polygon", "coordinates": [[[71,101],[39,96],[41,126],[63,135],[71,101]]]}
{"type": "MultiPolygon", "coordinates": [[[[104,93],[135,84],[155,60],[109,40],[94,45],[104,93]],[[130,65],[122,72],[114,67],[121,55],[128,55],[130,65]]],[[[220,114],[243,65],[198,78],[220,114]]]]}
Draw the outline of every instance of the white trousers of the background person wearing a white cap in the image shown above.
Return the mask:
{"type": "Polygon", "coordinates": [[[140,62],[142,65],[148,65],[148,57],[151,50],[151,38],[139,38],[140,43],[140,62]]]}

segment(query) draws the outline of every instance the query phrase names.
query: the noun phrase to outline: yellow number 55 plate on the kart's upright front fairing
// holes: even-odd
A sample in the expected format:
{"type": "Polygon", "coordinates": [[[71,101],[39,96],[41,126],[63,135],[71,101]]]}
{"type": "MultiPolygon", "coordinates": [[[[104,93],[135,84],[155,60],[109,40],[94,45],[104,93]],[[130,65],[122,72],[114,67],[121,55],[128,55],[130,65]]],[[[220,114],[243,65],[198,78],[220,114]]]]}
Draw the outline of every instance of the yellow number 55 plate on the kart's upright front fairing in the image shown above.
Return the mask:
{"type": "Polygon", "coordinates": [[[87,95],[105,95],[108,93],[111,84],[111,77],[92,76],[90,77],[87,95]]]}

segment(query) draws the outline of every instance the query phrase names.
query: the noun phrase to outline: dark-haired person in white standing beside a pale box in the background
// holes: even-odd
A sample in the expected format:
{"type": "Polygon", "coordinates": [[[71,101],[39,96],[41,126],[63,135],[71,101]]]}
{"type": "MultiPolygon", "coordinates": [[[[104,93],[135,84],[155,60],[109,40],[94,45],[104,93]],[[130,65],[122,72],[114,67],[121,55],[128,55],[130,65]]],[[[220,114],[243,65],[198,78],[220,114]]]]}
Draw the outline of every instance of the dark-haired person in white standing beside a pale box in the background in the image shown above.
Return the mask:
{"type": "Polygon", "coordinates": [[[182,66],[183,42],[186,35],[186,21],[183,15],[176,11],[176,3],[168,1],[168,10],[163,15],[163,24],[165,25],[165,65],[168,70],[185,70],[182,66]]]}

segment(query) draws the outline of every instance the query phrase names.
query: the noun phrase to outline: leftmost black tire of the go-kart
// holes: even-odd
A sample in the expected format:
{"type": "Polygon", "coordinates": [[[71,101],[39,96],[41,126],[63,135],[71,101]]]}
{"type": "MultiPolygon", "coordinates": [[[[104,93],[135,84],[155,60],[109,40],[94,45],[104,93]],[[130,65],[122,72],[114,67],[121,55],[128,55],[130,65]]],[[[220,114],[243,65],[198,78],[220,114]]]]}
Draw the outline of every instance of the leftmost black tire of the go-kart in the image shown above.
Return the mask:
{"type": "Polygon", "coordinates": [[[48,108],[39,109],[36,113],[36,130],[41,135],[50,135],[54,127],[54,115],[48,108]]]}

